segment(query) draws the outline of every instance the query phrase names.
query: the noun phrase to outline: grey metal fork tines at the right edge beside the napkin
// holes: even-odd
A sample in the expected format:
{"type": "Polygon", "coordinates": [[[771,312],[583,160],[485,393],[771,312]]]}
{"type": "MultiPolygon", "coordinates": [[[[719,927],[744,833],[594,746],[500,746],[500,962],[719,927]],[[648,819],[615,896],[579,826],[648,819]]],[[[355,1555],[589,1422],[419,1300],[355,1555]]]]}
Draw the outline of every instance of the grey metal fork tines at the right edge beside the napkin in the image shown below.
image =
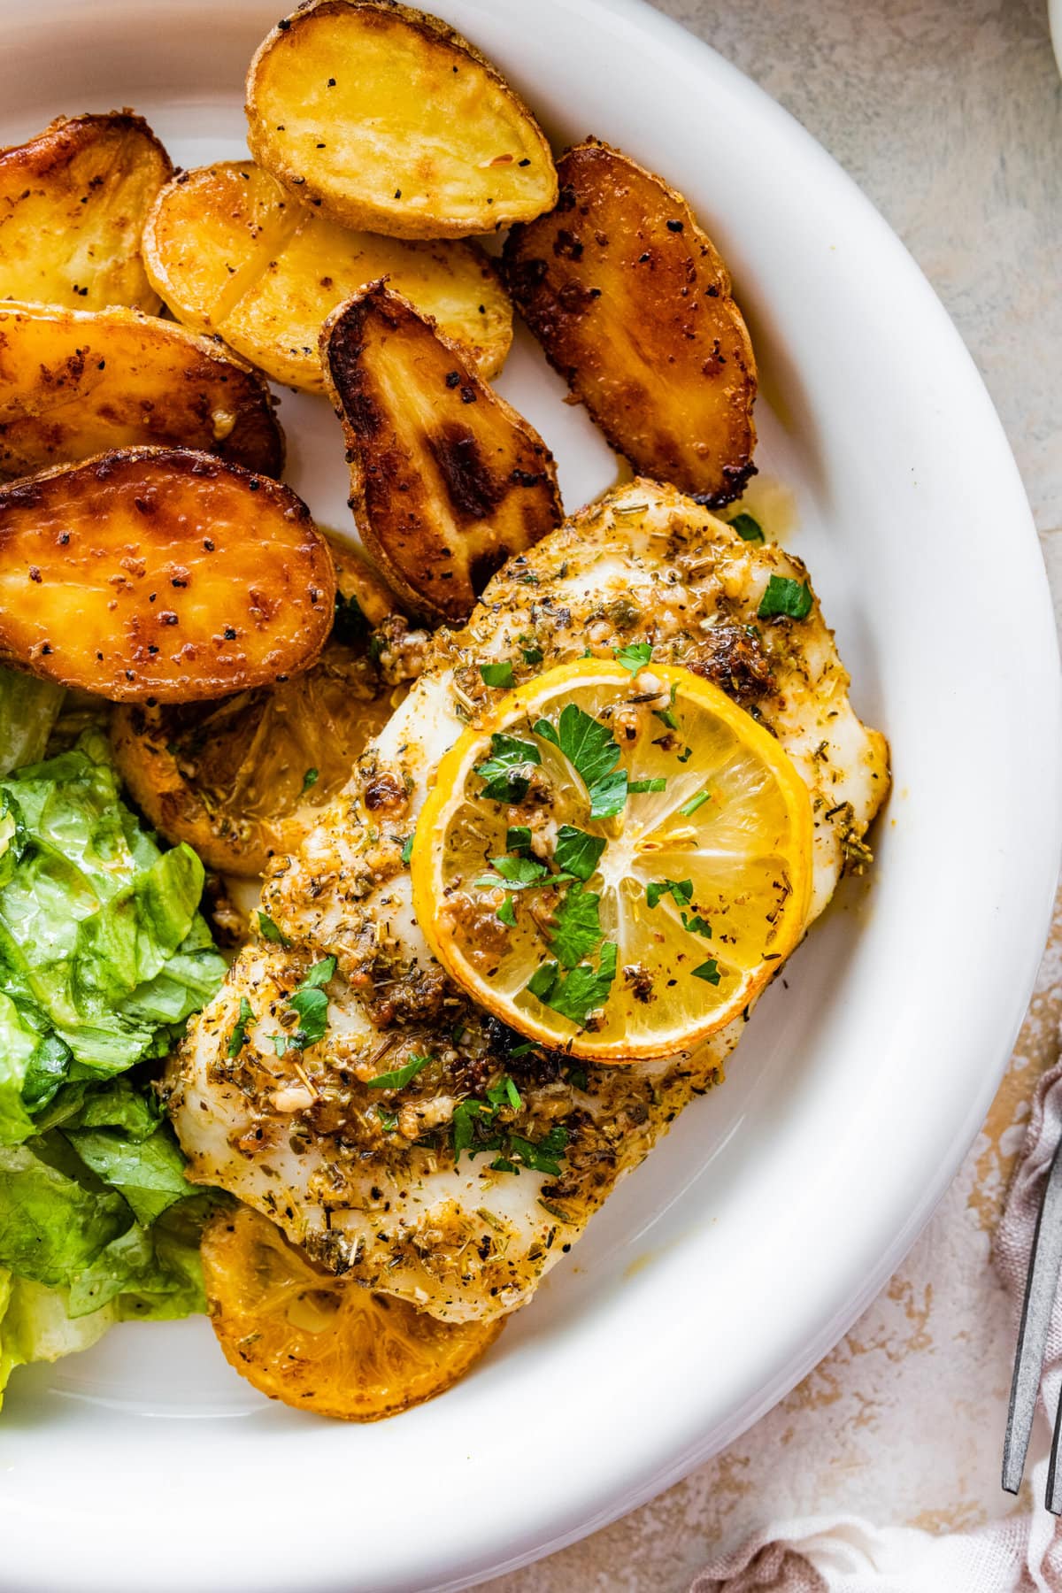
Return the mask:
{"type": "MultiPolygon", "coordinates": [[[[1022,1483],[1022,1472],[1025,1470],[1025,1454],[1029,1453],[1029,1437],[1037,1415],[1040,1370],[1048,1344],[1054,1297],[1059,1287],[1060,1263],[1062,1139],[1051,1160],[1051,1172],[1048,1174],[1043,1201],[1040,1203],[1032,1257],[1029,1260],[1029,1276],[1025,1279],[1022,1321],[1017,1330],[1011,1407],[1006,1416],[1006,1438],[1003,1440],[1003,1488],[1008,1493],[1017,1493],[1022,1483]]],[[[1048,1509],[1054,1510],[1056,1515],[1062,1513],[1062,1486],[1056,1488],[1056,1450],[1059,1448],[1059,1424],[1056,1423],[1051,1475],[1048,1478],[1048,1509]]],[[[1062,1478],[1059,1481],[1062,1483],[1062,1478]]]]}

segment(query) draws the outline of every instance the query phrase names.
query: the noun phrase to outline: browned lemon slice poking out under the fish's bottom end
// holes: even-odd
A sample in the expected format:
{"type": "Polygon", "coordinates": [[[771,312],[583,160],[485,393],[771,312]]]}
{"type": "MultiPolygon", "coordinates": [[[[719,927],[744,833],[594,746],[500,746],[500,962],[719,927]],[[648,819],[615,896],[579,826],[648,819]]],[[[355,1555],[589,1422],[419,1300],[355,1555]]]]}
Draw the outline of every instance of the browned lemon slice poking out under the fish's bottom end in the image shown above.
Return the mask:
{"type": "Polygon", "coordinates": [[[229,1364],[269,1399],[344,1421],[379,1421],[433,1399],[505,1325],[438,1322],[323,1273],[250,1206],[207,1225],[202,1271],[229,1364]]]}

